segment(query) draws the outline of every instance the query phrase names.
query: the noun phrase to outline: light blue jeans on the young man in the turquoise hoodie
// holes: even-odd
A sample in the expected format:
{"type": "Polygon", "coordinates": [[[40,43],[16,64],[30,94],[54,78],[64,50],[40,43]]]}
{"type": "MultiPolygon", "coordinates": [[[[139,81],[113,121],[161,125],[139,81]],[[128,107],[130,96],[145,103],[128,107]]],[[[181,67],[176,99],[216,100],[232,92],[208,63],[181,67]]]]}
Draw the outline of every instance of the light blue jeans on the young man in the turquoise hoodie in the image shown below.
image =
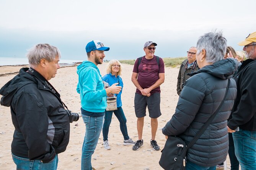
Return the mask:
{"type": "Polygon", "coordinates": [[[92,170],[91,156],[97,146],[99,135],[103,127],[104,116],[90,117],[82,114],[85,123],[85,139],[82,147],[81,169],[92,170]]]}

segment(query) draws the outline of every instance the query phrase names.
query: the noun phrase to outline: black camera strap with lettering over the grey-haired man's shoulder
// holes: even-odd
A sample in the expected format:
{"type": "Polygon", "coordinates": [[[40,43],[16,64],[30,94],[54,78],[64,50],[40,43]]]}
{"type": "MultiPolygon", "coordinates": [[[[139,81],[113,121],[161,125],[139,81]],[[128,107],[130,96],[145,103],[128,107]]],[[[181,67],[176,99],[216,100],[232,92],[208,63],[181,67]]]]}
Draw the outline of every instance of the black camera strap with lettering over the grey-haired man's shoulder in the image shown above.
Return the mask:
{"type": "MultiPolygon", "coordinates": [[[[29,67],[28,71],[29,74],[33,75],[34,77],[36,77],[36,79],[38,79],[41,83],[43,83],[54,95],[55,97],[59,100],[59,102],[66,107],[66,109],[68,110],[68,107],[65,105],[65,103],[60,99],[60,94],[58,93],[57,90],[55,90],[55,88],[51,85],[50,82],[48,82],[39,72],[37,72],[36,70],[34,70],[33,68],[29,67]]],[[[68,110],[69,111],[69,110],[68,110]]]]}

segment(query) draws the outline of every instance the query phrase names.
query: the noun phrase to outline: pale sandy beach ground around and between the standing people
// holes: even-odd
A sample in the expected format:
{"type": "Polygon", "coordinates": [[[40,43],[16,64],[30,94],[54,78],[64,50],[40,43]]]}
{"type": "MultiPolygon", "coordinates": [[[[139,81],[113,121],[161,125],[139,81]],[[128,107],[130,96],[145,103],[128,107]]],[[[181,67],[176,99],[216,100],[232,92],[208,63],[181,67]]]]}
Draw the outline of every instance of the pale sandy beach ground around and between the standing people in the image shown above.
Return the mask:
{"type": "MultiPolygon", "coordinates": [[[[101,75],[106,74],[107,63],[98,65],[101,75]]],[[[23,66],[2,66],[0,67],[0,87],[11,80],[23,66]]],[[[124,88],[122,92],[122,109],[127,118],[127,128],[129,136],[136,141],[137,128],[134,112],[134,93],[135,86],[131,82],[132,65],[123,64],[122,79],[124,88]]],[[[55,78],[49,82],[60,93],[61,99],[72,112],[80,112],[80,97],[76,92],[78,75],[77,67],[61,67],[55,78]]],[[[165,136],[161,128],[171,119],[174,114],[178,95],[176,93],[176,83],[179,68],[165,68],[165,82],[161,85],[161,113],[158,118],[158,131],[156,140],[161,149],[165,144],[165,136]]],[[[0,97],[2,97],[0,95],[0,97]]],[[[15,170],[16,166],[11,157],[11,141],[13,138],[14,127],[11,122],[10,108],[0,106],[0,170],[15,170]]],[[[85,134],[85,124],[82,118],[77,122],[70,123],[70,141],[67,150],[59,154],[58,170],[80,170],[81,169],[81,150],[85,134]],[[78,126],[76,126],[78,125],[78,126]]],[[[113,114],[113,119],[109,128],[110,150],[103,148],[103,136],[100,135],[95,153],[92,156],[92,166],[96,170],[161,170],[158,164],[161,151],[153,151],[150,146],[151,127],[150,118],[145,117],[143,127],[143,147],[138,151],[133,151],[131,145],[122,144],[123,137],[119,128],[119,122],[113,114]]],[[[230,167],[227,157],[227,167],[230,167]]]]}

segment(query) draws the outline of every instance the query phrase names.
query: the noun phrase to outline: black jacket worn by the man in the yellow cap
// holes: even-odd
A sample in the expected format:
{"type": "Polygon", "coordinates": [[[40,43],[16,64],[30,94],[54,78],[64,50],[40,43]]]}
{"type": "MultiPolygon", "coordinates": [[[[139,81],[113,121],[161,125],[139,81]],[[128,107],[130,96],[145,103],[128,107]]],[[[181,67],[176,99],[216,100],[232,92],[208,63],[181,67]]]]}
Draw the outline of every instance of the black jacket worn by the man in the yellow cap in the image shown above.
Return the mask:
{"type": "Polygon", "coordinates": [[[234,79],[237,95],[228,127],[256,131],[256,61],[245,60],[234,79]]]}

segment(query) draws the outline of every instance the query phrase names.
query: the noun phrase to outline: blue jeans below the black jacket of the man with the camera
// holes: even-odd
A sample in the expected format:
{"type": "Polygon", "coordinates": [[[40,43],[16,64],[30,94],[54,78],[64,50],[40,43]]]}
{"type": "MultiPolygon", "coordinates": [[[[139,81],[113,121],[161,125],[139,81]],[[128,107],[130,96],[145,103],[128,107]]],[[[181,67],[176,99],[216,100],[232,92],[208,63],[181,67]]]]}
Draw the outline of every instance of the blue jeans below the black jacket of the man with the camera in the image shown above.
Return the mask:
{"type": "Polygon", "coordinates": [[[13,162],[17,165],[17,170],[57,170],[58,155],[48,163],[42,163],[41,160],[29,160],[28,158],[18,157],[14,154],[13,162]]]}

